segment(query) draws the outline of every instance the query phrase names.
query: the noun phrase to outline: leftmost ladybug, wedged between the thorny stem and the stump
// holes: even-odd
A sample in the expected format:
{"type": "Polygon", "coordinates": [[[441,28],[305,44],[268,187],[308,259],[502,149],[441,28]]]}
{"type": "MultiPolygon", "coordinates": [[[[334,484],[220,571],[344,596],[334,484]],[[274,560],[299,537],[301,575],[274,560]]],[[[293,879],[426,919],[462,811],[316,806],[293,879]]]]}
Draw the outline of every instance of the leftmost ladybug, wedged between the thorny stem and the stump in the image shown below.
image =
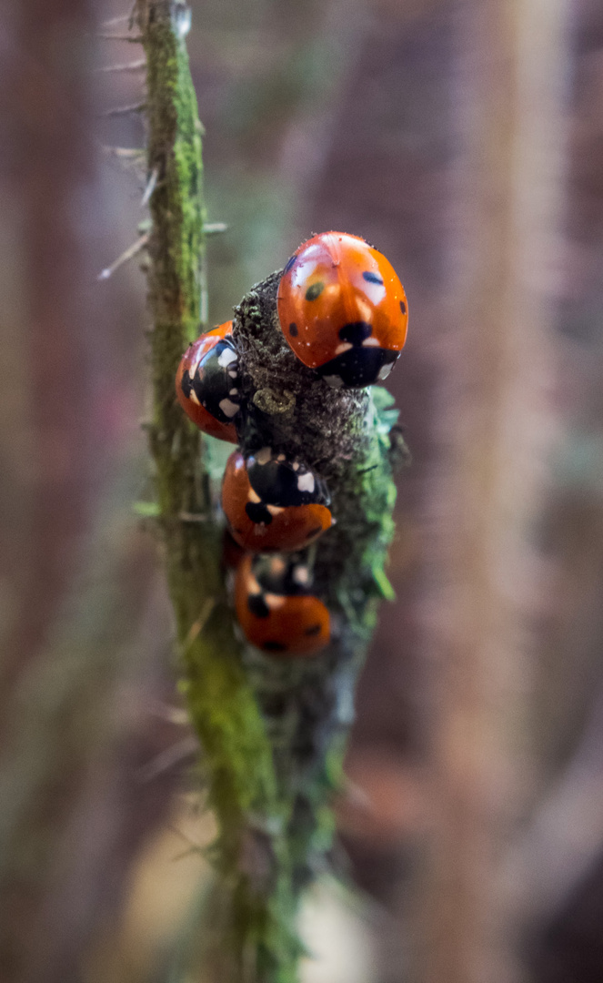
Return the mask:
{"type": "Polygon", "coordinates": [[[176,395],[204,434],[238,443],[235,421],[241,413],[241,387],[232,328],[232,320],[227,320],[189,346],[178,367],[176,395]]]}

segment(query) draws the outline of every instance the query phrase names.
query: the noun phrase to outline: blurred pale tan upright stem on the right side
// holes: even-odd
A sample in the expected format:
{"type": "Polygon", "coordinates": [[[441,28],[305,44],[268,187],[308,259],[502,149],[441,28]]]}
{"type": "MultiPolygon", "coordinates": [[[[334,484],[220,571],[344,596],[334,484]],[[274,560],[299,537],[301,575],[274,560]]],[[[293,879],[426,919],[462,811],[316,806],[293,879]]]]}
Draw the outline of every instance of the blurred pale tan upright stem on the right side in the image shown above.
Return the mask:
{"type": "Polygon", "coordinates": [[[551,269],[563,171],[565,2],[459,7],[454,383],[440,409],[437,672],[423,983],[517,983],[517,885],[501,860],[529,801],[534,545],[553,427],[551,269]]]}

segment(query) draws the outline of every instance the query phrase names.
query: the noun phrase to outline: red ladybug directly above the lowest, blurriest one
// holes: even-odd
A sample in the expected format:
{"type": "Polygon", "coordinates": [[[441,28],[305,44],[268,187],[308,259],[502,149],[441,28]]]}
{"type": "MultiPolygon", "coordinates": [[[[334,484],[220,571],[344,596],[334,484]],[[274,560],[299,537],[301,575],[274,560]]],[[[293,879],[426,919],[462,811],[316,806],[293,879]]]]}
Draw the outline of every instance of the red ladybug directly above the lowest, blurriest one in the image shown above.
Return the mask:
{"type": "Polygon", "coordinates": [[[270,447],[231,454],[222,508],[233,537],[252,552],[302,549],[332,524],[324,482],[270,447]]]}

